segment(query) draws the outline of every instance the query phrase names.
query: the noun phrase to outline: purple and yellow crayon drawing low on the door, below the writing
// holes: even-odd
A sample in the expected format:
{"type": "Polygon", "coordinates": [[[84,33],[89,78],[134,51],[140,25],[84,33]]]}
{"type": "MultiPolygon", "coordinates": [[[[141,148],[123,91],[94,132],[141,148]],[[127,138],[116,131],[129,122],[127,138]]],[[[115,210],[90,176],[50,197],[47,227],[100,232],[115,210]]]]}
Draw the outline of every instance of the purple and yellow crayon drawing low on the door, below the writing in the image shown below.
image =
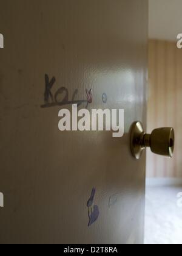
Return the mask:
{"type": "Polygon", "coordinates": [[[98,219],[98,216],[99,216],[99,208],[97,205],[94,205],[95,193],[96,193],[96,189],[93,188],[89,201],[87,202],[88,215],[89,215],[89,224],[88,224],[89,227],[98,219]]]}

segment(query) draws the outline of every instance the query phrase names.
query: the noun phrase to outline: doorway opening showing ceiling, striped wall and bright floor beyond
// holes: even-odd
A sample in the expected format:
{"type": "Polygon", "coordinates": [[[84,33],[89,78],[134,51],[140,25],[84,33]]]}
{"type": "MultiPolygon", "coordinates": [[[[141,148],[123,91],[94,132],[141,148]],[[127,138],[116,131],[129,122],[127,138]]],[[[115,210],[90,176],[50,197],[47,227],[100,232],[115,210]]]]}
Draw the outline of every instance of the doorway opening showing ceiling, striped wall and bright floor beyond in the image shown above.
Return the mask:
{"type": "Polygon", "coordinates": [[[147,244],[182,244],[182,49],[177,47],[181,8],[182,1],[149,0],[147,132],[174,127],[175,151],[170,159],[147,150],[147,244]]]}

